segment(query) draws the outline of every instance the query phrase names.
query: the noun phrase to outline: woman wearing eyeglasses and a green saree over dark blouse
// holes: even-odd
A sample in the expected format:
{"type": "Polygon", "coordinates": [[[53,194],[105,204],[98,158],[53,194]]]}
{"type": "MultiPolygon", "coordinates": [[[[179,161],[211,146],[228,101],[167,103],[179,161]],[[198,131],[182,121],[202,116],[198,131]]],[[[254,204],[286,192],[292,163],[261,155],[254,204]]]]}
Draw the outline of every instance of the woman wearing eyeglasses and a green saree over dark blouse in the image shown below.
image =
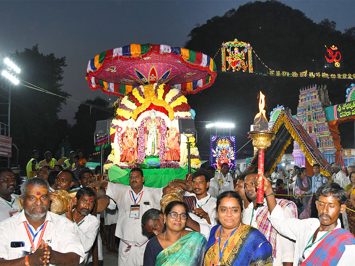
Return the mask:
{"type": "Polygon", "coordinates": [[[163,233],[147,243],[144,266],[203,264],[207,240],[198,232],[184,229],[188,215],[183,202],[171,201],[166,205],[163,233]]]}

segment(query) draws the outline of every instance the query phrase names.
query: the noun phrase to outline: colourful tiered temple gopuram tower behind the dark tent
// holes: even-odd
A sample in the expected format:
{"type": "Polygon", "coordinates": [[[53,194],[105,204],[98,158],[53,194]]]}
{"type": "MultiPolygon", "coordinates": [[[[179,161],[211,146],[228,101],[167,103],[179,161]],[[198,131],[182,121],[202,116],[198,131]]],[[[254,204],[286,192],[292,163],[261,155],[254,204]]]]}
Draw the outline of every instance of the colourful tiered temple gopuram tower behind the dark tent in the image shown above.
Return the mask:
{"type": "MultiPolygon", "coordinates": [[[[328,120],[324,108],[331,106],[328,98],[327,86],[313,85],[300,89],[299,104],[296,119],[305,128],[313,142],[317,145],[323,156],[331,164],[335,161],[335,146],[333,137],[328,129],[328,120]]],[[[300,145],[294,141],[293,157],[295,165],[305,165],[305,155],[300,145]]]]}

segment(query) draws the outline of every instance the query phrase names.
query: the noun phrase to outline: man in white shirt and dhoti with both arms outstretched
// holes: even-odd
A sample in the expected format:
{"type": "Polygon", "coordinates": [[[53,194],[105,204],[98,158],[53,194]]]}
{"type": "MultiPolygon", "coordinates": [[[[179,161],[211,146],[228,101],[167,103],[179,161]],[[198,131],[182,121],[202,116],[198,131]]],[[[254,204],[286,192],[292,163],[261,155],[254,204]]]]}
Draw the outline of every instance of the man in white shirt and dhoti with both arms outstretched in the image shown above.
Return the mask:
{"type": "MultiPolygon", "coordinates": [[[[117,203],[119,216],[115,235],[121,239],[118,265],[140,266],[143,265],[144,250],[149,240],[148,235],[143,234],[141,217],[148,209],[160,208],[160,199],[168,189],[144,187],[143,171],[138,167],[130,171],[129,183],[127,186],[100,180],[88,187],[97,191],[105,189],[103,192],[117,203]]],[[[173,186],[174,182],[169,185],[173,186]]]]}

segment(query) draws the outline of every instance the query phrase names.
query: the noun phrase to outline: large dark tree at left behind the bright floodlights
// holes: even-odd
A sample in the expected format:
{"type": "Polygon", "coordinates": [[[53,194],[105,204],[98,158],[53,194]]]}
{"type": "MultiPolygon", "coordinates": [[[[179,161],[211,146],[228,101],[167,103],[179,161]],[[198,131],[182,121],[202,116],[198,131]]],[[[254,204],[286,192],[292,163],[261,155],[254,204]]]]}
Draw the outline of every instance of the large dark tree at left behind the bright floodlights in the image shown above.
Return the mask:
{"type": "MultiPolygon", "coordinates": [[[[12,143],[20,149],[19,161],[23,168],[34,149],[39,150],[39,160],[43,160],[45,151],[54,154],[60,140],[65,139],[69,125],[66,120],[58,119],[66,99],[22,84],[38,86],[65,97],[70,94],[61,89],[65,57],[58,58],[53,53],[44,55],[39,52],[38,44],[31,49],[16,51],[9,57],[21,68],[20,78],[25,81],[11,89],[10,116],[10,136],[12,143]]],[[[12,164],[15,164],[15,159],[13,156],[12,164]]]]}

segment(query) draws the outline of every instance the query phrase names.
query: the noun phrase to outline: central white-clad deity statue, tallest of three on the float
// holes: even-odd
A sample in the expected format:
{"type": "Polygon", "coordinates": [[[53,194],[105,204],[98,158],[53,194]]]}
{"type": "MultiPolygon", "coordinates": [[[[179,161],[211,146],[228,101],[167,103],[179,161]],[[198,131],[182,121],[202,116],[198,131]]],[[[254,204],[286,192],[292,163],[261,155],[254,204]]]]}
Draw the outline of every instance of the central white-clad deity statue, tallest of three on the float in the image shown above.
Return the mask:
{"type": "Polygon", "coordinates": [[[144,148],[146,149],[146,155],[158,155],[160,148],[160,134],[159,126],[160,122],[155,116],[155,112],[149,113],[149,119],[144,124],[144,148]]]}

